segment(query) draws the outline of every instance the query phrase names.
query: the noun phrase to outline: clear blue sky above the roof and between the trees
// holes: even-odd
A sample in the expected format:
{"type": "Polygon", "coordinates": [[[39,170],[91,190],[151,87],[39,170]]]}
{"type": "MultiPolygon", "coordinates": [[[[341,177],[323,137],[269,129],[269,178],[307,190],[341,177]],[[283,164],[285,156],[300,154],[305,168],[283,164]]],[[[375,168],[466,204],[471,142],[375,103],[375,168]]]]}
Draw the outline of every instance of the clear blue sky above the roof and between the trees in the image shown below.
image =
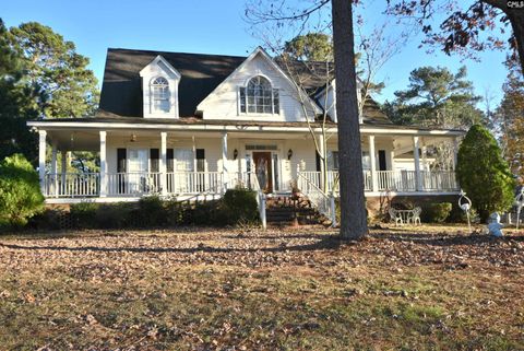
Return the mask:
{"type": "MultiPolygon", "coordinates": [[[[361,10],[369,20],[365,28],[382,21],[383,2],[368,0],[361,10]]],[[[16,0],[0,1],[0,17],[8,26],[28,21],[50,26],[91,59],[90,68],[102,82],[109,47],[249,55],[262,43],[251,35],[243,20],[245,5],[246,0],[16,0]]],[[[391,25],[391,33],[395,31],[391,25]]],[[[456,72],[465,65],[478,95],[489,92],[492,104],[502,97],[504,52],[483,52],[478,62],[461,61],[460,56],[427,54],[427,48],[419,48],[420,39],[420,35],[412,36],[378,72],[378,80],[385,82],[381,95],[374,96],[378,101],[393,100],[395,91],[406,89],[409,72],[421,66],[441,66],[456,72]]]]}

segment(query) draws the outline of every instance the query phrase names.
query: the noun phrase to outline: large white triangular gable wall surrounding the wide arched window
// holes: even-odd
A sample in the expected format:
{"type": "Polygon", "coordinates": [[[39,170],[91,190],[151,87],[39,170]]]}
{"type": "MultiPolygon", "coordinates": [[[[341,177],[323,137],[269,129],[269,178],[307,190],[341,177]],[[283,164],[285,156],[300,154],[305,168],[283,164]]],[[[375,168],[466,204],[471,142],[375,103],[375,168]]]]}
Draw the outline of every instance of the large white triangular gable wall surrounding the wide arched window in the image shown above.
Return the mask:
{"type": "Polygon", "coordinates": [[[317,104],[288,78],[265,51],[257,49],[224,82],[198,105],[204,119],[305,121],[301,101],[308,117],[314,118],[321,110],[317,104]],[[279,114],[246,114],[239,106],[240,89],[255,77],[265,78],[273,89],[278,90],[279,114]],[[299,95],[301,94],[301,96],[299,95]]]}

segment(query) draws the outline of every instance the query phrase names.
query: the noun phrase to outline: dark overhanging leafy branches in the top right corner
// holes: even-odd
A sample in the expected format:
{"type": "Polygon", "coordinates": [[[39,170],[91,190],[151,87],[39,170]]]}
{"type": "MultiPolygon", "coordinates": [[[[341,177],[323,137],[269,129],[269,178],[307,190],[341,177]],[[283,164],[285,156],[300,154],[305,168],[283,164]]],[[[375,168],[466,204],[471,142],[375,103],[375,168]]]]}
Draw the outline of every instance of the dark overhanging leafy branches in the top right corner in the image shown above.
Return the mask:
{"type": "Polygon", "coordinates": [[[524,12],[501,0],[388,0],[388,12],[414,19],[426,34],[424,44],[444,52],[475,57],[476,51],[512,49],[524,66],[524,12]],[[436,17],[443,21],[436,23],[436,17]]]}

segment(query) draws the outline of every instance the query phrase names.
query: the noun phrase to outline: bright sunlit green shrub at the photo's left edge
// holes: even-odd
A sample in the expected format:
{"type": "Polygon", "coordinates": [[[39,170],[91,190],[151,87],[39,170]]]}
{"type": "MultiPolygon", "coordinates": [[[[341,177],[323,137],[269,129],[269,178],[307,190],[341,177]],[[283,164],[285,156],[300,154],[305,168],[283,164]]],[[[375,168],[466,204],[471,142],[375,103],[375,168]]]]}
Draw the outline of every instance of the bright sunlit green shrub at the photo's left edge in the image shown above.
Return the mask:
{"type": "Polygon", "coordinates": [[[44,210],[38,174],[22,154],[0,162],[0,223],[23,226],[44,210]]]}

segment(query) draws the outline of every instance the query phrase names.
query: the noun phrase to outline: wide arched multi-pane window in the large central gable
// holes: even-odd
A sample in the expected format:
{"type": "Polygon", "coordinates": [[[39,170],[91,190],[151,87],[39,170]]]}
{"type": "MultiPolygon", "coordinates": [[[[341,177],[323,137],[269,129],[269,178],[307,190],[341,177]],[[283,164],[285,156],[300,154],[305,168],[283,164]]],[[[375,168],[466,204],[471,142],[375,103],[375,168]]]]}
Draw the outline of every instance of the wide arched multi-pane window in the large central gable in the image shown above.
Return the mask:
{"type": "Polygon", "coordinates": [[[240,87],[240,112],[242,114],[279,114],[278,90],[267,79],[257,75],[240,87]]]}

